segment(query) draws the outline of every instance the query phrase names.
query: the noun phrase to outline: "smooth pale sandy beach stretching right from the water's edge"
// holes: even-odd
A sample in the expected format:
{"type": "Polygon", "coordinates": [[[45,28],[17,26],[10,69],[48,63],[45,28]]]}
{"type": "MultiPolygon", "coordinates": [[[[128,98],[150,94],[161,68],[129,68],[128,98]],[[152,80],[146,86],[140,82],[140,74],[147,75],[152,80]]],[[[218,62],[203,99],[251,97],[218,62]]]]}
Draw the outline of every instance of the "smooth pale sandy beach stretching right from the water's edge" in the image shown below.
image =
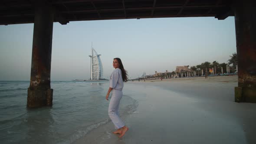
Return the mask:
{"type": "Polygon", "coordinates": [[[234,102],[235,86],[237,75],[127,82],[138,107],[121,115],[125,136],[109,122],[74,144],[256,144],[256,104],[234,102]]]}

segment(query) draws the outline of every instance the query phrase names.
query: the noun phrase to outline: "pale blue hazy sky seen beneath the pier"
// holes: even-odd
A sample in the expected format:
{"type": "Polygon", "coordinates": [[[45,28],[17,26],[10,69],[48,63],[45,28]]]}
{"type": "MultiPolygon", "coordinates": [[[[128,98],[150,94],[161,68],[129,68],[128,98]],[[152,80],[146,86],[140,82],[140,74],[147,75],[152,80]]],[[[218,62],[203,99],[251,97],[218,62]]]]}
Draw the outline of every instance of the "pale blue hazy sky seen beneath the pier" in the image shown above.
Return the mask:
{"type": "MultiPolygon", "coordinates": [[[[29,81],[33,24],[0,26],[0,80],[29,81]]],[[[122,60],[129,79],[176,66],[227,62],[236,52],[234,17],[154,18],[53,23],[51,80],[90,78],[91,45],[100,56],[103,78],[122,60]]]]}

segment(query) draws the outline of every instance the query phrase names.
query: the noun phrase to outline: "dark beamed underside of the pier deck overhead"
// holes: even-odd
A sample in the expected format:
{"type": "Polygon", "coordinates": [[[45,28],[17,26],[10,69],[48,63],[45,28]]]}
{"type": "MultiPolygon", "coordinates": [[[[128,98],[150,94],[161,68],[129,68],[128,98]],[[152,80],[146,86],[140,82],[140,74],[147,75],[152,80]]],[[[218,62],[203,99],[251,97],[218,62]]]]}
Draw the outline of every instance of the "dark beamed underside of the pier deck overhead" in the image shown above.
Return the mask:
{"type": "MultiPolygon", "coordinates": [[[[0,0],[0,25],[33,23],[37,0],[0,0]]],[[[161,17],[233,16],[233,0],[45,0],[54,22],[161,17]]]]}

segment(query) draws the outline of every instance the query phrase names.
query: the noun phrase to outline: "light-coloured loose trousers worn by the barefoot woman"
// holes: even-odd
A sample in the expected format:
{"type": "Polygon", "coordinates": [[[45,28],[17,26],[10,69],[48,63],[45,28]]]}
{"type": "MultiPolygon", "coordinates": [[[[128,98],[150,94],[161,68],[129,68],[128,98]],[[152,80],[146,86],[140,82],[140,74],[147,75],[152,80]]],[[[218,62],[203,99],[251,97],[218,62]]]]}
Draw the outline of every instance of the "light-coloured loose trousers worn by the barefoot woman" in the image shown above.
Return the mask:
{"type": "Polygon", "coordinates": [[[123,96],[122,91],[113,89],[112,97],[110,99],[109,106],[108,106],[108,116],[114,123],[116,129],[119,129],[125,126],[125,124],[122,122],[121,118],[119,117],[119,112],[118,112],[119,103],[121,101],[122,96],[123,96]]]}

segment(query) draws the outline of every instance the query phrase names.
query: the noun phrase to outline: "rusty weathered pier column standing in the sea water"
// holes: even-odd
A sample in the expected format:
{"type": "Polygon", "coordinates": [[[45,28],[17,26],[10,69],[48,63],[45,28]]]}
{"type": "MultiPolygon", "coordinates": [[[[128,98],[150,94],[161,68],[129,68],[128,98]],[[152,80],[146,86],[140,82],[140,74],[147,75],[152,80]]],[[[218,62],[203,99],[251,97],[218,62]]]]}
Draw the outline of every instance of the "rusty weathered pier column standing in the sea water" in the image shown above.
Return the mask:
{"type": "Polygon", "coordinates": [[[53,16],[53,9],[45,0],[35,3],[28,108],[53,105],[53,89],[50,86],[53,16]]]}

